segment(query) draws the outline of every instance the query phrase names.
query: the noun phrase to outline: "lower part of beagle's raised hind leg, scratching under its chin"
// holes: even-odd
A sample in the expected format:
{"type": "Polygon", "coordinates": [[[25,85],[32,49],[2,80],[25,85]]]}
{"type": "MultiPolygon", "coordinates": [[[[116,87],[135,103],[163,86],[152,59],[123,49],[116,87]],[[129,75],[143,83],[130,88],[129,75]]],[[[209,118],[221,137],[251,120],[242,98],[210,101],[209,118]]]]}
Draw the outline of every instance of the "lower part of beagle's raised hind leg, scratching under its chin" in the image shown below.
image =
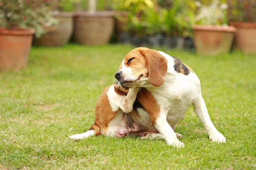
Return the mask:
{"type": "Polygon", "coordinates": [[[121,101],[120,109],[125,113],[130,113],[133,109],[133,104],[136,100],[137,94],[140,87],[130,88],[127,96],[125,96],[121,101]]]}

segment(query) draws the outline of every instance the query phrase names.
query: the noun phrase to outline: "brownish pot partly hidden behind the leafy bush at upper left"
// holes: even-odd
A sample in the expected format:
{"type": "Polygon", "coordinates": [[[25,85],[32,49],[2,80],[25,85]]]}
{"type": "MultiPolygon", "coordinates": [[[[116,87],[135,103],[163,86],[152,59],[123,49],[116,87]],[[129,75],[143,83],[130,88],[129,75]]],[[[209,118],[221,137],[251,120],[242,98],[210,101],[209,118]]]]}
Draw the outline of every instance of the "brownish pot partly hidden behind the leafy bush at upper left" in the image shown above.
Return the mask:
{"type": "Polygon", "coordinates": [[[35,45],[62,46],[68,43],[73,32],[73,13],[60,12],[55,15],[59,23],[48,29],[48,32],[40,38],[34,37],[35,45]]]}

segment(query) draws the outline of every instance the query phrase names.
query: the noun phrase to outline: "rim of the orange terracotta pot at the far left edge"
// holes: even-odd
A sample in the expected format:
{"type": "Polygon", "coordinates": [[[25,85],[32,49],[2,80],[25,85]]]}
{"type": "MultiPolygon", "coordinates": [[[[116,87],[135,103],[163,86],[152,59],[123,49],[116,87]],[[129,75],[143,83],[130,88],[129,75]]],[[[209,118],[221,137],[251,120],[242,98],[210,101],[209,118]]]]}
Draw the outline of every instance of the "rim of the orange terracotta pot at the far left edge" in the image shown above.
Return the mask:
{"type": "Polygon", "coordinates": [[[12,30],[7,28],[0,28],[0,34],[8,35],[32,35],[35,34],[35,30],[32,28],[23,29],[23,28],[12,28],[12,30]]]}

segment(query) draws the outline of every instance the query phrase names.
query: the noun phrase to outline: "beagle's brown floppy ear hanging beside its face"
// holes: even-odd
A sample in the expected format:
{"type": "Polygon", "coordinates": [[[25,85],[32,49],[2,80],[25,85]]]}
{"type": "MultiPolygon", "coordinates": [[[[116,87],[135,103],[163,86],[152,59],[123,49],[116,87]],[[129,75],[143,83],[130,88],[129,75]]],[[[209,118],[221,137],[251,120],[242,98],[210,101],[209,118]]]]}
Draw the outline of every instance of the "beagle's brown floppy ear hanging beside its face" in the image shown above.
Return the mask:
{"type": "Polygon", "coordinates": [[[168,68],[167,59],[156,50],[139,48],[139,51],[148,62],[148,77],[151,85],[155,87],[163,85],[168,68]]]}

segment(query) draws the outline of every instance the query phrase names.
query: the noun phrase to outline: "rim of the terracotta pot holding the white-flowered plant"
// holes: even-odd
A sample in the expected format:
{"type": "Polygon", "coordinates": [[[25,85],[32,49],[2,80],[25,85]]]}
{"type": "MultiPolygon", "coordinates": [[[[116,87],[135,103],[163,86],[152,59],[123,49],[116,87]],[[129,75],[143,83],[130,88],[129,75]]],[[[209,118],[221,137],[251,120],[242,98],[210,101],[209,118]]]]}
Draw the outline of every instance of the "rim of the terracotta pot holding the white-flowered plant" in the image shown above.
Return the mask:
{"type": "Polygon", "coordinates": [[[193,30],[202,31],[224,31],[224,32],[236,32],[236,28],[233,26],[204,26],[204,25],[194,25],[193,30]]]}

